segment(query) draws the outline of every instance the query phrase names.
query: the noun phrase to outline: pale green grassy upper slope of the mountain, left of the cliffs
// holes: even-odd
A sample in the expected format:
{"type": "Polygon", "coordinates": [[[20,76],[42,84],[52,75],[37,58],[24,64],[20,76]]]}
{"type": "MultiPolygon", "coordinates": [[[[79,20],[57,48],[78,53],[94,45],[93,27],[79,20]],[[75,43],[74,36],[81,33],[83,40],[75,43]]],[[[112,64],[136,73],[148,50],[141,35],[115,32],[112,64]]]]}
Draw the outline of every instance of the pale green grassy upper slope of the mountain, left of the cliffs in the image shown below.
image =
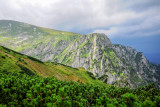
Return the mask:
{"type": "Polygon", "coordinates": [[[37,27],[17,21],[0,20],[0,44],[5,44],[8,48],[18,52],[35,48],[42,43],[47,45],[51,40],[56,40],[52,41],[52,47],[62,40],[71,43],[80,36],[78,33],[37,27]]]}

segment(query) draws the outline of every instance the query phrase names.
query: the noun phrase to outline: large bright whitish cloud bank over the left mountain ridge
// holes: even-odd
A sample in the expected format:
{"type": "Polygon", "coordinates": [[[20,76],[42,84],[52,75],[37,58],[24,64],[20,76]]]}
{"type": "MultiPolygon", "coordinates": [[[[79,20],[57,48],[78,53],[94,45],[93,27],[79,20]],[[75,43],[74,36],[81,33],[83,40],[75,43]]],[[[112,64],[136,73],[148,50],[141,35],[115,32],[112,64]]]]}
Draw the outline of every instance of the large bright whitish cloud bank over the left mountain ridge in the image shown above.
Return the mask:
{"type": "Polygon", "coordinates": [[[118,0],[1,0],[0,7],[0,12],[4,14],[0,19],[46,27],[105,27],[120,24],[130,15],[134,16],[134,13],[123,11],[118,0]]]}

